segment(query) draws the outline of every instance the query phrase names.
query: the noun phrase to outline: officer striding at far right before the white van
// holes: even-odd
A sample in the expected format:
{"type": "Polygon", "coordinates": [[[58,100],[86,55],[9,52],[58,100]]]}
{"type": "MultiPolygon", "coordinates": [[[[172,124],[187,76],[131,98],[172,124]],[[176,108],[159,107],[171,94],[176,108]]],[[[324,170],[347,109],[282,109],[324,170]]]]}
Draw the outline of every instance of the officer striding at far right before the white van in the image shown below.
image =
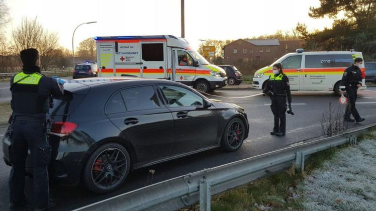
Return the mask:
{"type": "Polygon", "coordinates": [[[354,64],[348,67],[342,76],[341,81],[341,94],[346,90],[347,97],[349,98],[349,103],[346,107],[344,121],[346,122],[362,122],[365,119],[361,118],[358,111],[355,108],[355,102],[357,98],[358,88],[361,87],[362,73],[359,69],[359,65],[363,64],[362,58],[355,58],[354,64]],[[354,117],[355,120],[351,119],[350,116],[354,117]]]}

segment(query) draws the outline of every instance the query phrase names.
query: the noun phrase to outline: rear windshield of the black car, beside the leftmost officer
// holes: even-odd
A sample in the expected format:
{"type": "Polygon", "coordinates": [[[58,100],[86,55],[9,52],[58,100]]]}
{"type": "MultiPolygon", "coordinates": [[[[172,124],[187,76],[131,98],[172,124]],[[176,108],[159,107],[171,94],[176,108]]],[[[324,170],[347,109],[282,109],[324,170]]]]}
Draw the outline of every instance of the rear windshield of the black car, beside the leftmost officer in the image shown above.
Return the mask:
{"type": "Polygon", "coordinates": [[[54,97],[53,108],[50,109],[51,116],[69,115],[78,107],[84,97],[84,94],[75,94],[65,90],[63,96],[54,97]]]}

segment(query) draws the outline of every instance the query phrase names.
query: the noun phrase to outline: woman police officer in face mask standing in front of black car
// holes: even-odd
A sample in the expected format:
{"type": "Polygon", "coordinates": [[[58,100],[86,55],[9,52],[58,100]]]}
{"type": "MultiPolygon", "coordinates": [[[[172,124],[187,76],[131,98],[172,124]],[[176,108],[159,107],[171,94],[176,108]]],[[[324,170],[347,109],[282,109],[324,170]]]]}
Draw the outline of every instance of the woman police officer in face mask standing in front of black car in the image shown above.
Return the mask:
{"type": "Polygon", "coordinates": [[[286,98],[289,102],[289,112],[291,109],[291,91],[288,76],[283,72],[282,65],[276,63],[273,65],[273,74],[270,75],[264,94],[268,94],[271,99],[271,112],[274,115],[274,128],[270,135],[285,136],[286,135],[286,98]]]}

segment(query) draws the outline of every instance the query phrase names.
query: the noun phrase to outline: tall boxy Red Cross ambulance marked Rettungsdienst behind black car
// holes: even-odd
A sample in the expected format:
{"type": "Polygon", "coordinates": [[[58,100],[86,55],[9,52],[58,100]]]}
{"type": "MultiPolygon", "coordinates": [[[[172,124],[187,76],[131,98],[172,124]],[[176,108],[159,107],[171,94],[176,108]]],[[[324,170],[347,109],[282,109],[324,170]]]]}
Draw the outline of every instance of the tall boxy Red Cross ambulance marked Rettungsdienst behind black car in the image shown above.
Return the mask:
{"type": "Polygon", "coordinates": [[[95,37],[98,76],[164,78],[209,92],[226,85],[222,68],[210,64],[183,38],[95,37]]]}

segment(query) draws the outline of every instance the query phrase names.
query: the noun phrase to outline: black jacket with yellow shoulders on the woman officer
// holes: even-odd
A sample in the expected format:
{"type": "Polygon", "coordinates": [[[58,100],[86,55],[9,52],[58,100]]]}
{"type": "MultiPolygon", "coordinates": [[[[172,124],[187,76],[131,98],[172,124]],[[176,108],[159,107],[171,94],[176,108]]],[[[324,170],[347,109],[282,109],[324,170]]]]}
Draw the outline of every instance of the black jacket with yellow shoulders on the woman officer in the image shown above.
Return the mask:
{"type": "Polygon", "coordinates": [[[289,77],[286,74],[276,74],[274,75],[274,78],[270,76],[263,92],[268,93],[269,91],[273,92],[274,95],[287,96],[289,103],[292,101],[289,77]]]}

